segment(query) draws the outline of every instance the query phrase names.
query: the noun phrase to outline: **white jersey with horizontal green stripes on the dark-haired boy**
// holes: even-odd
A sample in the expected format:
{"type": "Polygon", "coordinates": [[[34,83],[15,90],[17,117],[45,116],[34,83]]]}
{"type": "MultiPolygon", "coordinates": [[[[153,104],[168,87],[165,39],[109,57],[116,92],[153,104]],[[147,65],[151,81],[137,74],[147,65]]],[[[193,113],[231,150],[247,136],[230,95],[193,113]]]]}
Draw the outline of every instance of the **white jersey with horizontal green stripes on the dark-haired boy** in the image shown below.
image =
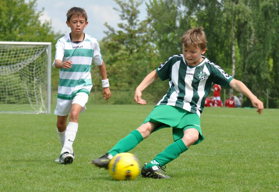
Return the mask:
{"type": "Polygon", "coordinates": [[[72,61],[69,69],[61,68],[59,71],[58,95],[60,99],[73,99],[78,92],[89,95],[92,88],[91,63],[92,58],[96,65],[102,65],[102,55],[98,41],[85,34],[84,40],[74,43],[70,35],[61,37],[56,43],[55,59],[72,61]]]}

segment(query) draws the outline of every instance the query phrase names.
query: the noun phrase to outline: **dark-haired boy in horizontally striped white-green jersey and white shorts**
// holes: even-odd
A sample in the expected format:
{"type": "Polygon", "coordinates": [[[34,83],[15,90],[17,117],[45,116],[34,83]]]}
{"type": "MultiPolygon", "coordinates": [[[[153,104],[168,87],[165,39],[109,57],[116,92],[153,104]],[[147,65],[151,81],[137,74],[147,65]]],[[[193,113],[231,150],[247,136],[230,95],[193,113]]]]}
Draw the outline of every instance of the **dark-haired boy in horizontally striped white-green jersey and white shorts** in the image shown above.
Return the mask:
{"type": "Polygon", "coordinates": [[[102,76],[103,97],[107,100],[111,96],[99,43],[83,33],[88,24],[85,10],[72,7],[66,16],[66,24],[71,28],[71,33],[57,41],[52,64],[60,69],[57,104],[53,112],[57,115],[57,132],[62,145],[60,157],[55,162],[60,164],[69,164],[74,160],[72,145],[77,133],[79,114],[86,109],[85,104],[93,86],[90,73],[92,59],[102,76]]]}

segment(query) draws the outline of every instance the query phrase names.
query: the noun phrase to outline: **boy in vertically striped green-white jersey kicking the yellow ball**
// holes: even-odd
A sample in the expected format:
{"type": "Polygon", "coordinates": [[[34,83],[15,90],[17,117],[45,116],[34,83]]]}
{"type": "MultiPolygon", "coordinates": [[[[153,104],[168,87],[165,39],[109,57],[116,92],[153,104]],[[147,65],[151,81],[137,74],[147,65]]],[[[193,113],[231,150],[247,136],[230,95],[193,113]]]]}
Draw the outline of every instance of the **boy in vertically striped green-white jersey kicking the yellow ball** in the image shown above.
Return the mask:
{"type": "Polygon", "coordinates": [[[191,145],[198,144],[204,139],[200,115],[212,83],[224,87],[230,85],[236,91],[243,93],[261,114],[264,109],[263,102],[241,81],[234,79],[205,57],[207,41],[202,27],[186,31],[181,37],[181,43],[183,54],[173,55],[149,73],[136,88],[134,100],[138,104],[146,104],[142,99],[142,91],[158,77],[161,80],[169,80],[169,90],[166,95],[161,98],[139,128],[116,143],[107,154],[93,159],[93,164],[107,168],[108,162],[116,154],[133,149],[154,131],[172,127],[174,143],[146,163],[141,172],[143,177],[169,178],[161,168],[188,150],[191,145]]]}

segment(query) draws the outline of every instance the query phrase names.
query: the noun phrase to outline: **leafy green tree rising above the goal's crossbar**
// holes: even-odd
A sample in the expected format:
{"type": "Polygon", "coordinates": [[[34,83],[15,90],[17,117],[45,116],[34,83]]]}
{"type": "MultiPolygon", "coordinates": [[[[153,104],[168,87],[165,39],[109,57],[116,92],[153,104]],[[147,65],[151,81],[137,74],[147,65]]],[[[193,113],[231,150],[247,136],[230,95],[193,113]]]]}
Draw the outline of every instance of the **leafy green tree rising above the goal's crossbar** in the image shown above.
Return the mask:
{"type": "Polygon", "coordinates": [[[42,11],[36,12],[36,6],[36,0],[1,0],[0,40],[55,42],[58,34],[50,22],[40,22],[42,11]]]}

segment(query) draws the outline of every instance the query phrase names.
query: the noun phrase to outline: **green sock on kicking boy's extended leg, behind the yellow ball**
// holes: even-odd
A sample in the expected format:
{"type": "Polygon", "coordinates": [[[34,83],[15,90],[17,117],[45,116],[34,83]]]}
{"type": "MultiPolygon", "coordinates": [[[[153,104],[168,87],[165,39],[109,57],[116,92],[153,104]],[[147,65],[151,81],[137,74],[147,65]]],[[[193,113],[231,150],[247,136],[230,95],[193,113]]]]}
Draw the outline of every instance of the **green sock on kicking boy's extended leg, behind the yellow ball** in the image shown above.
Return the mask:
{"type": "Polygon", "coordinates": [[[133,130],[129,135],[118,141],[115,146],[108,152],[112,156],[118,153],[124,153],[133,149],[139,142],[143,140],[138,130],[133,130]]]}

